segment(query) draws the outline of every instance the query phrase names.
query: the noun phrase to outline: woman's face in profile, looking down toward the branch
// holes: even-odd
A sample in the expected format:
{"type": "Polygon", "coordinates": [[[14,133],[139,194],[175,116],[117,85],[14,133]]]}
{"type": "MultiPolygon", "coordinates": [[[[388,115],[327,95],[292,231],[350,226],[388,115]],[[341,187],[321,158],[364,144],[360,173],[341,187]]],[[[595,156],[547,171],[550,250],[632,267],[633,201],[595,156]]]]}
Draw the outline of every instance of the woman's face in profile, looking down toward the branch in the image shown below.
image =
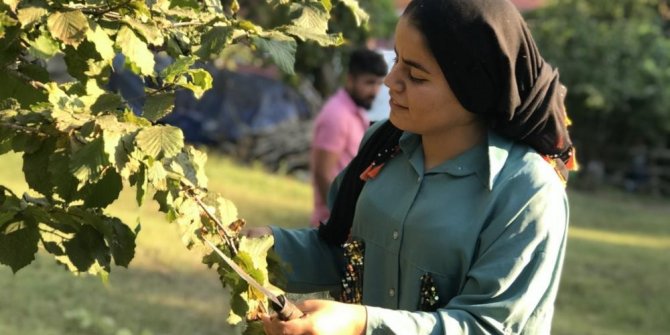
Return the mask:
{"type": "Polygon", "coordinates": [[[423,35],[406,17],[396,26],[395,52],[384,84],[391,95],[389,118],[396,127],[430,136],[478,123],[458,102],[423,35]]]}

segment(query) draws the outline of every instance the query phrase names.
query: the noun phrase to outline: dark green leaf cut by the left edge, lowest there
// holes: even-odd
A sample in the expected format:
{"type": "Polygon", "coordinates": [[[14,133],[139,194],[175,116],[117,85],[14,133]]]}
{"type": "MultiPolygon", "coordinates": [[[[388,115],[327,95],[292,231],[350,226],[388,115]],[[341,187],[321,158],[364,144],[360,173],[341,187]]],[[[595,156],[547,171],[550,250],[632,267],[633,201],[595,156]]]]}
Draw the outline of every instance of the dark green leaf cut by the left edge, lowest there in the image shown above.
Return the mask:
{"type": "Polygon", "coordinates": [[[0,263],[16,273],[35,260],[39,239],[37,224],[29,220],[0,226],[0,263]]]}

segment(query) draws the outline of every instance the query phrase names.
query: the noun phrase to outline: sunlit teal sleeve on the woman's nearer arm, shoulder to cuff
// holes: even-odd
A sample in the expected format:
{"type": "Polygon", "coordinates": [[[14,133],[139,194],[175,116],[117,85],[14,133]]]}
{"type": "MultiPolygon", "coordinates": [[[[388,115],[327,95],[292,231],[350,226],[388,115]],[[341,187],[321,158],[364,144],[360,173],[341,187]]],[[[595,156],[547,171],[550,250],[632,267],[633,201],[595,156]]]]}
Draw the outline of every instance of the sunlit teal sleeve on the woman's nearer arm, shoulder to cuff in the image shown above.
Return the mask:
{"type": "Polygon", "coordinates": [[[568,222],[562,185],[506,193],[460,293],[436,312],[366,307],[366,334],[548,334],[568,222]],[[543,319],[544,318],[544,319],[543,319]],[[549,319],[547,319],[549,318],[549,319]]]}

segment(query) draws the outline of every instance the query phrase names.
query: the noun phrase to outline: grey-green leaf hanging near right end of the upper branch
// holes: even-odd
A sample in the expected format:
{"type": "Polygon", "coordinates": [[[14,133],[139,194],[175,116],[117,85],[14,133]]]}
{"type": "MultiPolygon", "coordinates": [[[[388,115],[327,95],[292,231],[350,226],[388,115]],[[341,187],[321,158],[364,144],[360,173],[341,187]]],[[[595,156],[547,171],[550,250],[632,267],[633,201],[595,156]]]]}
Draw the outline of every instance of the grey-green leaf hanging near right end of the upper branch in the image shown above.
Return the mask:
{"type": "Polygon", "coordinates": [[[252,37],[253,43],[264,54],[270,56],[275,64],[287,74],[294,74],[295,40],[280,32],[272,32],[263,37],[252,37]]]}

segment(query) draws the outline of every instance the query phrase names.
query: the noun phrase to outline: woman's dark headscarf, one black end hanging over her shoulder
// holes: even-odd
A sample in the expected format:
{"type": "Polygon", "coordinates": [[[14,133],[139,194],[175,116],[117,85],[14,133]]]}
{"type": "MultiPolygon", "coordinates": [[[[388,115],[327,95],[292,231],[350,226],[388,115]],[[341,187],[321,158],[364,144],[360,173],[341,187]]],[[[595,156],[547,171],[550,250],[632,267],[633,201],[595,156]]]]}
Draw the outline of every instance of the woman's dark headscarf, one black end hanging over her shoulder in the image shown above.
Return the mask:
{"type": "MultiPolygon", "coordinates": [[[[566,89],[544,61],[508,0],[414,0],[403,16],[422,33],[458,101],[490,128],[526,143],[567,181],[576,168],[567,131],[566,89]]],[[[363,145],[344,174],[319,235],[338,245],[349,236],[365,172],[383,165],[402,132],[390,122],[363,145]],[[363,175],[362,175],[363,174],[363,175]]]]}

